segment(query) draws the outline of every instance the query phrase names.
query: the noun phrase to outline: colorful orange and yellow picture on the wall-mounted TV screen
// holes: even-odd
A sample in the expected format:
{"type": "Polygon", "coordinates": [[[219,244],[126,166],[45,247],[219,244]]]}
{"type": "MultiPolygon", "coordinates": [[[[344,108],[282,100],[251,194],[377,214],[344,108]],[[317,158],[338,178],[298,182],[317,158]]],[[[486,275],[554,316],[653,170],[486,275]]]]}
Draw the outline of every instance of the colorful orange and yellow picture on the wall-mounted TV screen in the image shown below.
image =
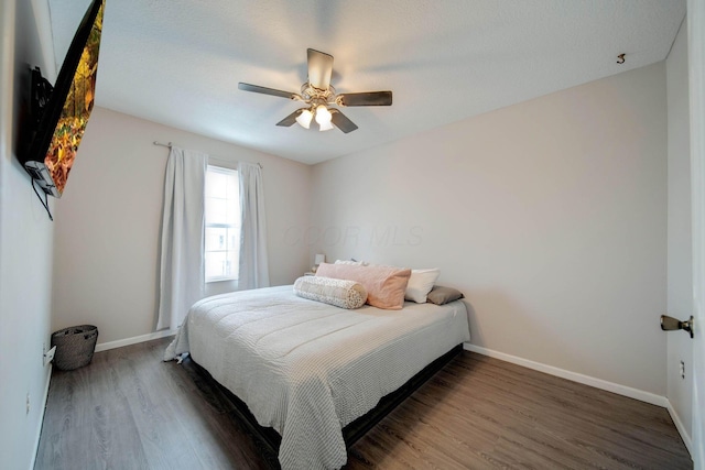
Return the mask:
{"type": "Polygon", "coordinates": [[[61,119],[56,124],[52,143],[44,159],[44,164],[48,168],[59,195],[64,192],[68,172],[74,164],[76,151],[93,110],[104,6],[98,11],[88,42],[80,55],[80,62],[64,102],[61,119]]]}

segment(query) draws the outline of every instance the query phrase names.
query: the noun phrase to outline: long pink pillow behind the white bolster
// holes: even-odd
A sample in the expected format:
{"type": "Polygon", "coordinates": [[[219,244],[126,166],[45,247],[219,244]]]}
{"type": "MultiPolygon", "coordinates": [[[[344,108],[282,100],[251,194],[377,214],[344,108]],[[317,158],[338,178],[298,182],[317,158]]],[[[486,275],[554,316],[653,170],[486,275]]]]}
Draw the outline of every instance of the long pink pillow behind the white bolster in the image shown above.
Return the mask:
{"type": "Polygon", "coordinates": [[[356,281],[367,289],[367,303],[373,307],[399,310],[404,306],[411,270],[391,266],[356,266],[322,263],[316,276],[356,281]]]}

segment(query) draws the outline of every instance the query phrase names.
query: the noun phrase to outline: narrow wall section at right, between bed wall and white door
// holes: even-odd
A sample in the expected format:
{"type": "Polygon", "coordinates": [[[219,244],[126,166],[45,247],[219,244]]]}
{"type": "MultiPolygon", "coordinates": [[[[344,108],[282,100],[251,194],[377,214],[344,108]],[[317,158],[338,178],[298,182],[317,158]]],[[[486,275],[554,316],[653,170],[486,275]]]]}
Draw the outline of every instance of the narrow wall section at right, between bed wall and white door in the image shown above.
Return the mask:
{"type": "MultiPolygon", "coordinates": [[[[666,59],[666,77],[669,100],[668,313],[683,320],[687,319],[693,311],[691,145],[685,21],[666,59]]],[[[668,397],[676,415],[674,420],[688,444],[693,401],[692,345],[690,336],[684,332],[668,334],[668,397]],[[685,363],[685,379],[681,379],[681,361],[685,363]]]]}

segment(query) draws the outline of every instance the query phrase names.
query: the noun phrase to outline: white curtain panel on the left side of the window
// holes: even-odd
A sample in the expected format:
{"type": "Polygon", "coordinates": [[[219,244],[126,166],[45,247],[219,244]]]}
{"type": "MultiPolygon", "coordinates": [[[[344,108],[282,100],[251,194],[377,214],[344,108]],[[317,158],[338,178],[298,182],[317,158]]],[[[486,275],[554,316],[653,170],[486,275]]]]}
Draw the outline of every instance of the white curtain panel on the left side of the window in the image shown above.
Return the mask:
{"type": "Polygon", "coordinates": [[[204,207],[208,155],[172,146],[164,178],[156,329],[176,329],[204,297],[204,207]]]}

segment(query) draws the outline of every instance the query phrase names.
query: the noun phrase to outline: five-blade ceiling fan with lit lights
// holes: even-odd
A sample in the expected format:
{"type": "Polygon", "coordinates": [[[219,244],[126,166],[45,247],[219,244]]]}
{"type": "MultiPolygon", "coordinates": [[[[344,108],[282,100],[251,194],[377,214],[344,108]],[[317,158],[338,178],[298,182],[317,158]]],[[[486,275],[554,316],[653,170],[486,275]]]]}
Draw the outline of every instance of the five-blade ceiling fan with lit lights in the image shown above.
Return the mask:
{"type": "Polygon", "coordinates": [[[308,129],[314,120],[321,131],[329,131],[335,125],[346,134],[357,129],[343,112],[329,106],[391,106],[391,91],[362,91],[356,94],[336,94],[330,85],[333,74],[333,56],[319,51],[308,50],[308,81],[301,86],[301,94],[260,87],[240,81],[238,88],[245,91],[253,91],[263,95],[272,95],[281,98],[293,99],[306,103],[282,119],[276,125],[289,128],[299,122],[308,129]]]}

